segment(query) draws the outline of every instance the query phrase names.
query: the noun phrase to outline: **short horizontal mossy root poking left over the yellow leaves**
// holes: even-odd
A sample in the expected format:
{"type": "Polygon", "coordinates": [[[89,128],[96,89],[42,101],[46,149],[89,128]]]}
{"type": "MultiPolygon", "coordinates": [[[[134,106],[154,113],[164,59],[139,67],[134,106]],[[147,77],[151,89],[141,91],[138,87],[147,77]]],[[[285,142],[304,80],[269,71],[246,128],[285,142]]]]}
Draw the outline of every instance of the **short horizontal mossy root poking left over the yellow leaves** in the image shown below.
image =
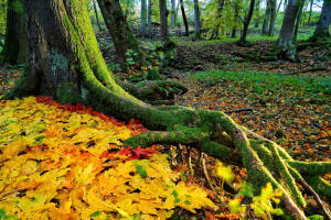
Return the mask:
{"type": "Polygon", "coordinates": [[[126,146],[150,146],[152,144],[192,144],[207,139],[210,134],[201,129],[182,128],[178,131],[150,131],[124,141],[126,146]]]}

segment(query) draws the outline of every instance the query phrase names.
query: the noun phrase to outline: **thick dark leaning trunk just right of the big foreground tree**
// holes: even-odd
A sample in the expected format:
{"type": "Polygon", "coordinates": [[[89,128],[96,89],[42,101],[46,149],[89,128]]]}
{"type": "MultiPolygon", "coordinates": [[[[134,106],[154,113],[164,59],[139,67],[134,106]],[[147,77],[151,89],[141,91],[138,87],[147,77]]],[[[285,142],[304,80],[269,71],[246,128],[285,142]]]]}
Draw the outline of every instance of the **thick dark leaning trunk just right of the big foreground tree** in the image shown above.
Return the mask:
{"type": "Polygon", "coordinates": [[[103,13],[106,26],[111,35],[116,51],[116,62],[126,63],[126,53],[131,50],[136,55],[132,57],[137,62],[142,62],[139,44],[122,14],[118,0],[97,0],[103,13]]]}

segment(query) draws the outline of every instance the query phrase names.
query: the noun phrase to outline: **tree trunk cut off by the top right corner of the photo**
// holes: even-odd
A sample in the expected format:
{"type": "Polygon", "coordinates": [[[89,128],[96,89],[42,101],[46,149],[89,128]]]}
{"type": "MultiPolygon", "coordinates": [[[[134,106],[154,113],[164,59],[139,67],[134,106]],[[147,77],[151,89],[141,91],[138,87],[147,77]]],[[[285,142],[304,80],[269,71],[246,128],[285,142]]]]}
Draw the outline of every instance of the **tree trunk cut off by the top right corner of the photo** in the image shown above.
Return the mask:
{"type": "Polygon", "coordinates": [[[331,1],[324,0],[322,12],[311,41],[318,41],[330,37],[329,26],[331,22],[331,1]]]}

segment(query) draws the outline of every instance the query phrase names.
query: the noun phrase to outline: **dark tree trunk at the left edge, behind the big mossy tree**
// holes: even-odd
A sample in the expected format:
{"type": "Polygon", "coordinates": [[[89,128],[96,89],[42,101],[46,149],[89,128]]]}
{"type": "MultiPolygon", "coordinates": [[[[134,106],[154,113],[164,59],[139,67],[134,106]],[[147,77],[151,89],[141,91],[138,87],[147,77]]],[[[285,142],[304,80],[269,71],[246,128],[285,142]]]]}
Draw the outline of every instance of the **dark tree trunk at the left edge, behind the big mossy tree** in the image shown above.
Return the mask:
{"type": "Polygon", "coordinates": [[[0,64],[22,64],[26,57],[23,3],[17,0],[7,1],[7,25],[4,47],[0,64]],[[15,7],[13,6],[15,3],[15,7]]]}

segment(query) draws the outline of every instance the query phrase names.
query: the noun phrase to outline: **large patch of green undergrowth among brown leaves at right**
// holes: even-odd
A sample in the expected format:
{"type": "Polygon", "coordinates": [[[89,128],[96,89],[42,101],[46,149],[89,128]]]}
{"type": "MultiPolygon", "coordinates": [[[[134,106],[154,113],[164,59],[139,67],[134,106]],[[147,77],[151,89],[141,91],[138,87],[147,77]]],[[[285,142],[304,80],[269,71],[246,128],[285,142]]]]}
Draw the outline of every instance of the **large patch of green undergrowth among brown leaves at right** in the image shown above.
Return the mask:
{"type": "MultiPolygon", "coordinates": [[[[232,90],[245,90],[250,99],[269,101],[286,97],[284,105],[328,103],[331,96],[331,77],[285,76],[256,72],[206,70],[192,76],[209,86],[231,85],[232,90]]],[[[284,100],[284,99],[281,99],[284,100]]]]}

